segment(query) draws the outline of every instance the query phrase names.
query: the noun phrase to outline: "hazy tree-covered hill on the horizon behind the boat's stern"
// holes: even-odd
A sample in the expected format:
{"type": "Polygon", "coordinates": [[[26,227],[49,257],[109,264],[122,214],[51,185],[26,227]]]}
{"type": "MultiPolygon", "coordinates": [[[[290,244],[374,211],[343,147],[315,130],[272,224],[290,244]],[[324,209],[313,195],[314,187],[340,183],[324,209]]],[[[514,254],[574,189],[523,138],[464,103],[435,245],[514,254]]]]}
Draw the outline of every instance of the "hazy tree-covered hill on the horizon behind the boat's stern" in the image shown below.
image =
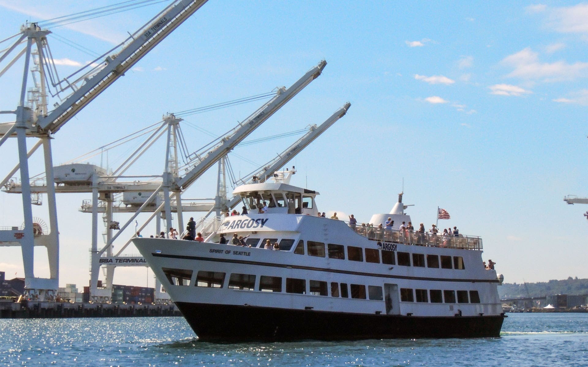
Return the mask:
{"type": "Polygon", "coordinates": [[[516,297],[543,297],[553,294],[588,294],[588,279],[569,277],[566,280],[550,280],[539,283],[504,283],[498,287],[500,299],[516,297]],[[527,289],[529,289],[527,293],[527,289]]]}

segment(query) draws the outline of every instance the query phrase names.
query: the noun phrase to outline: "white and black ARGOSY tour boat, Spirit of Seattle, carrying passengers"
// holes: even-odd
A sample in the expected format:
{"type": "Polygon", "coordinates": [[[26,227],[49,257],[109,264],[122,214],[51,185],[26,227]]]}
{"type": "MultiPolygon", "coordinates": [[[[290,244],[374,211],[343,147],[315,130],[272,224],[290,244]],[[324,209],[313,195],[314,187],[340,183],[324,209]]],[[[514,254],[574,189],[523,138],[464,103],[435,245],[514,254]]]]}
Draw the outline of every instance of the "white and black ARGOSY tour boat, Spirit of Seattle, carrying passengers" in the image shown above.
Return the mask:
{"type": "Polygon", "coordinates": [[[200,340],[499,336],[502,275],[482,238],[405,230],[402,194],[366,225],[320,217],[319,193],[292,173],[237,187],[248,214],[204,242],[133,240],[200,340]]]}

